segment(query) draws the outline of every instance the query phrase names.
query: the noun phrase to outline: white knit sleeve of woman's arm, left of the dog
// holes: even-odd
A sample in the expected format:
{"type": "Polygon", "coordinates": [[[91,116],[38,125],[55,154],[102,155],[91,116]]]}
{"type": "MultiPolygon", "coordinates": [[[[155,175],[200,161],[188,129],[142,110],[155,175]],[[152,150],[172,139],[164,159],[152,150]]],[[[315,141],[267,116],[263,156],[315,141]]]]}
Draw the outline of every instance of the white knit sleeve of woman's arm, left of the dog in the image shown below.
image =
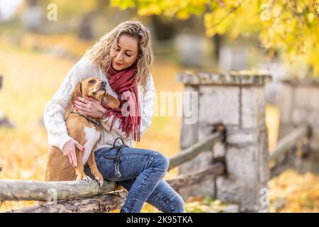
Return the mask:
{"type": "Polygon", "coordinates": [[[47,128],[48,143],[60,148],[60,150],[63,149],[67,141],[72,139],[67,133],[65,109],[69,99],[71,99],[74,88],[81,80],[80,71],[77,69],[77,65],[74,65],[67,73],[57,92],[45,106],[43,121],[45,128],[47,128]]]}

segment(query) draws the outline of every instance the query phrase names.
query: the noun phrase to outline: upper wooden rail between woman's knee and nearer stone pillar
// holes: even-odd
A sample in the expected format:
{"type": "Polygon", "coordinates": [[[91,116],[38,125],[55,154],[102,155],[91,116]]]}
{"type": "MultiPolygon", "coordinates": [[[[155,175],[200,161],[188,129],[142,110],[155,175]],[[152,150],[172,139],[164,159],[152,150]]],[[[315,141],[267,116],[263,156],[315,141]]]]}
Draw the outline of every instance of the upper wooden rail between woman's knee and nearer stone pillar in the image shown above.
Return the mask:
{"type": "Polygon", "coordinates": [[[212,135],[209,135],[207,138],[199,141],[198,143],[195,143],[191,147],[187,148],[186,150],[183,150],[178,155],[175,155],[174,157],[169,159],[169,170],[172,170],[174,167],[177,167],[184,162],[188,162],[189,160],[192,160],[194,157],[202,153],[206,150],[211,150],[213,148],[213,145],[223,140],[223,135],[220,132],[213,133],[212,135]]]}

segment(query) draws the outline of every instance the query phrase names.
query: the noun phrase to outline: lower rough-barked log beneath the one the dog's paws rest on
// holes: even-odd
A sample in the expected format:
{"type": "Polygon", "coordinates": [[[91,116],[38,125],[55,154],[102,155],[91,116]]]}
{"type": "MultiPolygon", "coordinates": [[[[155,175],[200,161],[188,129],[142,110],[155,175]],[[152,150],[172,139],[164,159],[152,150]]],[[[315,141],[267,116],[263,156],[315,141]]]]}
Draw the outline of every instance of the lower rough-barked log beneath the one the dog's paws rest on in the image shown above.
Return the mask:
{"type": "Polygon", "coordinates": [[[69,199],[49,202],[23,209],[6,211],[6,213],[101,213],[121,209],[127,192],[114,192],[91,196],[89,198],[69,199]]]}

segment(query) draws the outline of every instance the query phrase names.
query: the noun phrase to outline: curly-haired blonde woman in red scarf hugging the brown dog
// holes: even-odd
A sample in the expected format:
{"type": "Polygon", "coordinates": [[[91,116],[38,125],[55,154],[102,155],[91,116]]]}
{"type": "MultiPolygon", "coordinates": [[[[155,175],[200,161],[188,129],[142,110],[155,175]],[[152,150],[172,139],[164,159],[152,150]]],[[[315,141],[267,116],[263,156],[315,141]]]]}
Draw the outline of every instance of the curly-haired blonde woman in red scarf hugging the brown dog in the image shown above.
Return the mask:
{"type": "Polygon", "coordinates": [[[163,212],[185,212],[183,199],[163,179],[169,166],[167,157],[154,150],[135,148],[135,140],[140,140],[152,122],[155,96],[150,74],[152,60],[150,32],[142,23],[126,21],[103,35],[72,67],[47,104],[44,121],[48,143],[60,148],[70,163],[77,166],[75,148],[82,150],[82,146],[67,134],[65,108],[82,79],[103,79],[107,82],[106,92],[119,99],[120,107],[108,109],[95,99],[80,97],[74,108],[80,114],[101,118],[96,165],[104,179],[116,181],[128,190],[121,212],[140,212],[145,201],[163,212]],[[118,154],[113,146],[116,138],[126,145],[121,147],[118,162],[113,159],[118,154]]]}

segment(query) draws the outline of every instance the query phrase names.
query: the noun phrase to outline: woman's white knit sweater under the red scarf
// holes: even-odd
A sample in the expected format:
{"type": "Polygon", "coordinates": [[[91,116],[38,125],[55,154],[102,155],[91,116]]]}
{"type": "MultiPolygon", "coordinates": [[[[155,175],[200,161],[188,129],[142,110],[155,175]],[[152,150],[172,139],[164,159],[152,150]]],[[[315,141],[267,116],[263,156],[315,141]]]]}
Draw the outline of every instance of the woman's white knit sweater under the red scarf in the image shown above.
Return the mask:
{"type": "MultiPolygon", "coordinates": [[[[107,82],[106,92],[112,96],[118,98],[118,94],[113,91],[111,85],[108,83],[106,74],[101,70],[99,65],[94,64],[88,57],[82,57],[74,67],[68,72],[67,77],[60,85],[57,92],[55,92],[53,98],[45,106],[45,113],[43,116],[45,127],[47,128],[47,138],[49,145],[53,145],[62,150],[65,143],[71,139],[67,133],[67,126],[65,124],[65,109],[68,101],[71,98],[71,94],[74,91],[76,85],[87,77],[98,77],[107,82]]],[[[147,83],[147,92],[142,93],[142,87],[138,86],[138,98],[141,104],[142,121],[140,125],[140,137],[144,135],[146,129],[152,123],[153,113],[153,99],[155,96],[155,84],[150,75],[150,79],[147,83]]],[[[114,140],[121,137],[130,148],[135,148],[135,141],[133,140],[133,133],[130,133],[129,137],[125,137],[125,132],[119,128],[120,120],[116,119],[112,131],[110,131],[111,121],[113,116],[105,122],[101,120],[101,133],[99,143],[96,146],[96,150],[100,148],[109,148],[113,146],[114,140]]],[[[117,141],[116,145],[120,145],[121,141],[117,141]]]]}

